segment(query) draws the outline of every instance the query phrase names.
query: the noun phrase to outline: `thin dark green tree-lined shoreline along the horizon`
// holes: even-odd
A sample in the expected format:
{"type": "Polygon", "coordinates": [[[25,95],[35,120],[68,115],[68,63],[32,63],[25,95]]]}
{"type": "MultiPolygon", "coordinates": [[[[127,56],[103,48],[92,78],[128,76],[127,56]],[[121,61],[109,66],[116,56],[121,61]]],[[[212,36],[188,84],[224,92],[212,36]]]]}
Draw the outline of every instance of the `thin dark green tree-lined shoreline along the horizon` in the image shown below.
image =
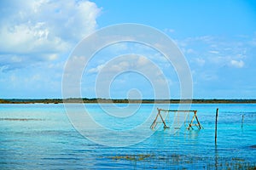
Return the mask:
{"type": "Polygon", "coordinates": [[[61,104],[61,103],[143,103],[143,104],[256,104],[256,99],[0,99],[0,104],[61,104]]]}

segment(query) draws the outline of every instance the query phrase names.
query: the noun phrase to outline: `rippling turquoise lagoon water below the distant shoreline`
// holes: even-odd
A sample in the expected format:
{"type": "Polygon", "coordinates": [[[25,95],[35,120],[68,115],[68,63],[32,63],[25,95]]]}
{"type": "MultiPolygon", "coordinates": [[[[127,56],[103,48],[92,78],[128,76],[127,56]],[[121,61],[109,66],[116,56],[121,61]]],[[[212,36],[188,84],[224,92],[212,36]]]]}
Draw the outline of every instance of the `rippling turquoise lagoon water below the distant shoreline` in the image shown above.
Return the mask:
{"type": "MultiPolygon", "coordinates": [[[[77,106],[72,105],[74,114],[77,106]]],[[[105,106],[113,109],[111,105],[105,106]]],[[[157,107],[168,108],[168,105],[157,107]]],[[[115,130],[137,126],[151,112],[157,114],[152,111],[152,104],[143,104],[131,119],[117,122],[104,116],[99,105],[90,104],[86,108],[96,122],[115,130]]],[[[176,109],[177,105],[170,108],[176,109]]],[[[256,105],[196,104],[191,109],[198,111],[203,129],[195,127],[188,131],[183,126],[173,134],[160,128],[138,144],[109,147],[91,142],[77,132],[68,120],[64,105],[0,105],[0,169],[247,169],[256,166],[256,149],[251,147],[256,144],[256,105]],[[217,146],[214,144],[216,108],[219,108],[217,146]]],[[[149,127],[146,123],[140,133],[149,127]]],[[[91,135],[108,139],[104,133],[91,135]]],[[[129,138],[138,135],[131,133],[129,138]]]]}

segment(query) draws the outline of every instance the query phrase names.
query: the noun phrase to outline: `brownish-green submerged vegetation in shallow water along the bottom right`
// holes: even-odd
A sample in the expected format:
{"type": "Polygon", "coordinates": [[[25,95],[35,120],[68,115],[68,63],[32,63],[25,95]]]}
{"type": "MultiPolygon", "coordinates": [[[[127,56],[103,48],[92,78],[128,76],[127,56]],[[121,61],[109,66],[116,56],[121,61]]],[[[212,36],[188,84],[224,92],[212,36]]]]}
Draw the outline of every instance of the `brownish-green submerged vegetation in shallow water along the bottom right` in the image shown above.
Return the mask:
{"type": "Polygon", "coordinates": [[[151,154],[138,155],[119,155],[108,156],[112,161],[131,161],[135,168],[175,168],[183,169],[204,168],[204,169],[256,169],[255,162],[245,161],[239,157],[221,157],[221,156],[188,156],[171,154],[166,156],[151,154]],[[157,167],[154,167],[157,165],[157,167]]]}

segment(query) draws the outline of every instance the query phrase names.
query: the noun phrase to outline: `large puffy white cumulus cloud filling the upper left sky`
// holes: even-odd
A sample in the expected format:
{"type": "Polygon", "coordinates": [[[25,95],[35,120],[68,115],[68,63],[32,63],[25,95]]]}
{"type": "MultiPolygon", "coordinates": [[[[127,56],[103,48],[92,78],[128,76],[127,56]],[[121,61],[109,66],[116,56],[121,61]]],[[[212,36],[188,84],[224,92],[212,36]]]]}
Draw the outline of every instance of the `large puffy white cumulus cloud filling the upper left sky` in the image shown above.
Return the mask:
{"type": "Polygon", "coordinates": [[[26,60],[58,59],[96,29],[101,9],[90,1],[3,0],[0,11],[1,65],[10,68],[26,60]]]}

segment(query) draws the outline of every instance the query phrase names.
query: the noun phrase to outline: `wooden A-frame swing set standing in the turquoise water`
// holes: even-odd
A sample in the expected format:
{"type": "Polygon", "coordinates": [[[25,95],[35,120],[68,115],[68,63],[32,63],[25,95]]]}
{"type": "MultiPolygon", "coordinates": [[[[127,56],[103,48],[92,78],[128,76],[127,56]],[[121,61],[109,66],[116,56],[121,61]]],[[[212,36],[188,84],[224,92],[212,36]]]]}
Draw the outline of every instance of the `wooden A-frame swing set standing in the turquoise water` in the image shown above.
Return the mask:
{"type": "Polygon", "coordinates": [[[155,129],[159,123],[162,123],[164,125],[165,129],[170,128],[171,126],[174,126],[174,128],[180,128],[181,125],[183,125],[183,123],[186,126],[186,122],[189,119],[190,112],[192,112],[193,116],[191,118],[191,121],[189,122],[189,126],[186,128],[188,130],[190,128],[194,129],[193,127],[197,127],[198,129],[202,128],[202,126],[198,120],[198,117],[196,115],[197,111],[163,110],[163,109],[159,109],[159,108],[157,108],[157,111],[158,111],[158,113],[154,119],[154,122],[150,126],[151,129],[155,129]],[[170,122],[171,116],[173,118],[172,125],[170,122]],[[195,120],[196,120],[196,122],[194,123],[195,120]]]}

